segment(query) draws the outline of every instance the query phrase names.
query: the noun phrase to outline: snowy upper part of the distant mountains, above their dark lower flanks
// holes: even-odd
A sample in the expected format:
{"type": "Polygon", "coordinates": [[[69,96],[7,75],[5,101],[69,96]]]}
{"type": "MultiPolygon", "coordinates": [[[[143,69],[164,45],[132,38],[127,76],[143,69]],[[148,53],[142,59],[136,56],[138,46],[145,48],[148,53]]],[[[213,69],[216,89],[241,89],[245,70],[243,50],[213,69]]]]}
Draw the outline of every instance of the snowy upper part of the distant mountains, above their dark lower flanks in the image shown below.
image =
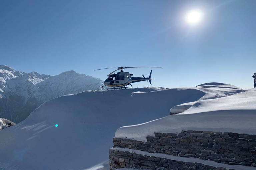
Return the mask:
{"type": "Polygon", "coordinates": [[[56,76],[14,71],[11,67],[0,65],[0,98],[17,94],[25,98],[25,102],[35,97],[39,101],[47,101],[62,95],[86,90],[102,89],[103,81],[99,78],[66,71],[56,76]]]}

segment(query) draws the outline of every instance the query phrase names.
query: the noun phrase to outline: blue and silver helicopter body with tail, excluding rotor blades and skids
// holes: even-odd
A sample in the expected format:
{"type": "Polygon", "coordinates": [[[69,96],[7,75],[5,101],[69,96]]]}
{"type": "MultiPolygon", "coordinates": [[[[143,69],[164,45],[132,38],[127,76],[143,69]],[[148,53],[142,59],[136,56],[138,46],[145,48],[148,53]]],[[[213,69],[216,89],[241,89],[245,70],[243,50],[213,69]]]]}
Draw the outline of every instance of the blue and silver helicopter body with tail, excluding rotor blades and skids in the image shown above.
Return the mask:
{"type": "Polygon", "coordinates": [[[108,87],[123,87],[135,82],[152,80],[151,73],[150,77],[131,77],[132,75],[133,74],[124,71],[118,72],[117,74],[111,74],[104,81],[104,85],[108,87]]]}

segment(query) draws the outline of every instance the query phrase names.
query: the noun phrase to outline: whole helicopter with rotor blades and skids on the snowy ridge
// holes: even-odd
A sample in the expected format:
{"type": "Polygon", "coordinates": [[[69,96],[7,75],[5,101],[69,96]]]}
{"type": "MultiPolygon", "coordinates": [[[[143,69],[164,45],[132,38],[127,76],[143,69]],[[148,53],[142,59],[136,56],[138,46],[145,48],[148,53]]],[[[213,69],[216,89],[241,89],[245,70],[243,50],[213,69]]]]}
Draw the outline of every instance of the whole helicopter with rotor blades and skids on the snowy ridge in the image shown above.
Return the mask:
{"type": "MultiPolygon", "coordinates": [[[[138,67],[111,67],[111,68],[117,68],[116,70],[112,71],[111,73],[108,74],[108,78],[104,81],[104,85],[108,87],[113,87],[113,88],[108,88],[109,89],[122,89],[122,88],[133,88],[131,83],[136,83],[140,81],[147,81],[151,84],[151,74],[152,70],[150,71],[149,77],[145,77],[143,74],[143,77],[131,77],[133,74],[130,74],[129,72],[124,72],[123,69],[125,68],[138,68],[138,67]],[[117,74],[113,74],[115,71],[120,70],[117,74]],[[131,85],[131,87],[125,87],[131,85]]],[[[161,67],[157,67],[161,68],[161,67]]],[[[103,69],[110,69],[110,68],[102,68],[102,69],[97,69],[97,70],[103,70],[103,69]]],[[[94,70],[96,71],[96,70],[94,70]]],[[[151,84],[152,85],[152,84],[151,84]]],[[[102,86],[104,88],[104,86],[102,86]]]]}

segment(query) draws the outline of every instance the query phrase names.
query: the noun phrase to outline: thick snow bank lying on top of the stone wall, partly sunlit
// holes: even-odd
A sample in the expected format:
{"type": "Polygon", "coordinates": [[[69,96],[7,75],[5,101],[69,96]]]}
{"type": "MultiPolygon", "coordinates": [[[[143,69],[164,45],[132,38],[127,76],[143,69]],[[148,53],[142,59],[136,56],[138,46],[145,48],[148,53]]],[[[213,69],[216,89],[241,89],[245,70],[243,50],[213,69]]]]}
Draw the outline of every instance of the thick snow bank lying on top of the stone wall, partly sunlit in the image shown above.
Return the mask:
{"type": "Polygon", "coordinates": [[[181,130],[256,134],[256,89],[185,103],[171,109],[171,112],[178,111],[184,112],[140,125],[121,127],[115,136],[146,141],[146,136],[153,136],[154,132],[177,133],[181,130]]]}

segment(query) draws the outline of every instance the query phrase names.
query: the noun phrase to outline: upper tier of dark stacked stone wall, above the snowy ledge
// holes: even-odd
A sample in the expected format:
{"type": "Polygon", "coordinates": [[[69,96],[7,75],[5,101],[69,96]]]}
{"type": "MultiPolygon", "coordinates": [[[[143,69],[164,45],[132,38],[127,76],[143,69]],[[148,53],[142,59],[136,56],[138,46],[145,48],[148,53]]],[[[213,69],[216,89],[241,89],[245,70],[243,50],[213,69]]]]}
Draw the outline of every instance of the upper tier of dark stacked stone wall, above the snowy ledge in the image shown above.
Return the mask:
{"type": "MultiPolygon", "coordinates": [[[[114,147],[119,148],[256,167],[256,135],[187,130],[180,133],[155,133],[155,136],[147,136],[146,142],[123,138],[114,138],[113,142],[114,147]]],[[[112,156],[116,157],[114,152],[112,156]]],[[[110,157],[110,160],[113,159],[110,157]]]]}

